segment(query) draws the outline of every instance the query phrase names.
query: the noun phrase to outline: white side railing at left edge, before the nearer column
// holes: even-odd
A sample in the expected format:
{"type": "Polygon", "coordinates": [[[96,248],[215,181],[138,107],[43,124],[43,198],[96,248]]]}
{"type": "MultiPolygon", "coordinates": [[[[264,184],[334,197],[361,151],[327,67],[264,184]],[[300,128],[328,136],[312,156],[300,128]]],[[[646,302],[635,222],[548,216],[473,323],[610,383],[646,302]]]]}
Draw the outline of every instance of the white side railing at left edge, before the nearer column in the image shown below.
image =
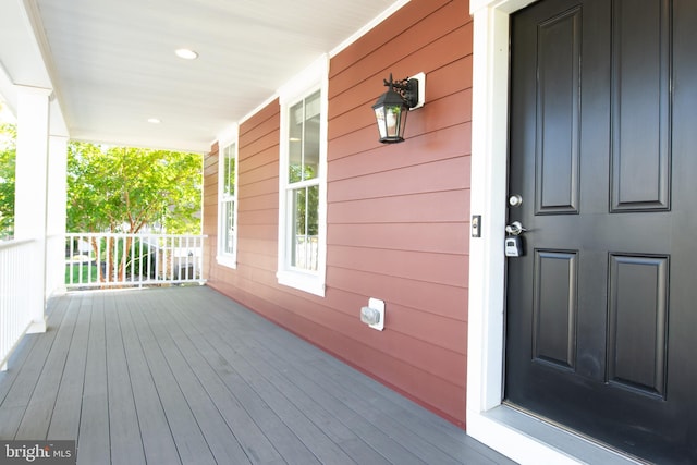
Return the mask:
{"type": "Polygon", "coordinates": [[[0,242],[0,370],[32,325],[33,296],[24,284],[39,272],[36,248],[37,241],[0,242]]]}

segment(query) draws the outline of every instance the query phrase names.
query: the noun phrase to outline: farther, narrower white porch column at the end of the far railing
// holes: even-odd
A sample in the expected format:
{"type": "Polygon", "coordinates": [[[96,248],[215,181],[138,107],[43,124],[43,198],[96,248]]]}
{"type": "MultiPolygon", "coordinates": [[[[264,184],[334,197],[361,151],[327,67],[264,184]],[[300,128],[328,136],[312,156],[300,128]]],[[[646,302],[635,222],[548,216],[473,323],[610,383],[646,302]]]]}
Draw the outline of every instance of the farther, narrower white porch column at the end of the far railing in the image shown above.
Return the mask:
{"type": "Polygon", "coordinates": [[[65,216],[68,201],[68,137],[49,137],[46,218],[46,297],[65,292],[65,216]]]}

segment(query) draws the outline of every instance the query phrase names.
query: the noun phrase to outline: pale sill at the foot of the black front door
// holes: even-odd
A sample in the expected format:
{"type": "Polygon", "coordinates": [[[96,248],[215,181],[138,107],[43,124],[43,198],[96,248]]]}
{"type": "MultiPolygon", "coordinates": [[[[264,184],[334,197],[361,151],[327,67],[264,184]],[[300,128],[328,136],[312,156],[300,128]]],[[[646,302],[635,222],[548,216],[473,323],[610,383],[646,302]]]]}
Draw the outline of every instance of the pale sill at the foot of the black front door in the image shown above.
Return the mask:
{"type": "Polygon", "coordinates": [[[509,444],[515,444],[513,445],[515,450],[512,448],[511,451],[503,451],[497,446],[493,449],[522,464],[540,464],[540,448],[550,453],[546,455],[563,457],[563,462],[570,464],[645,464],[509,405],[499,405],[488,412],[482,412],[479,415],[479,420],[491,423],[490,426],[498,426],[494,429],[505,429],[506,436],[516,437],[511,442],[505,441],[509,444]]]}

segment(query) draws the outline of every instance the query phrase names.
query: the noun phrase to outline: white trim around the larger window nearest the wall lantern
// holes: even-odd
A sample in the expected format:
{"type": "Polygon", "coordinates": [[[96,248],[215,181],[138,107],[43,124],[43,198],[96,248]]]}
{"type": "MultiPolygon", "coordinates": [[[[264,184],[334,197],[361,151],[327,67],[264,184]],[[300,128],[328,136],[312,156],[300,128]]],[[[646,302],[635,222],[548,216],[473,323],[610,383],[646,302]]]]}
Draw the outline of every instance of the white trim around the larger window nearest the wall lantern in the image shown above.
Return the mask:
{"type": "Polygon", "coordinates": [[[276,273],[279,284],[288,285],[310,294],[325,296],[325,280],[327,276],[327,110],[329,89],[329,59],[321,56],[310,66],[285,84],[278,90],[281,106],[280,131],[280,162],[279,162],[279,255],[278,271],[276,273]],[[318,257],[317,271],[303,271],[288,266],[286,252],[289,199],[286,198],[288,170],[289,170],[289,109],[311,93],[320,90],[319,125],[319,206],[318,206],[318,257]]]}

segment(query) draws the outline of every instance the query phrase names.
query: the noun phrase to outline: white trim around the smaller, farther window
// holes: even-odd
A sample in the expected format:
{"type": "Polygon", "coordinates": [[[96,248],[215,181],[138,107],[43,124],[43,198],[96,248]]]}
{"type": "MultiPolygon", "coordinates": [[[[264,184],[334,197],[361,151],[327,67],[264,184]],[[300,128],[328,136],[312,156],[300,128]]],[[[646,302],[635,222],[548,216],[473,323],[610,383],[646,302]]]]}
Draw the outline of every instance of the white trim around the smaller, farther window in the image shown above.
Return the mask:
{"type": "Polygon", "coordinates": [[[227,133],[222,134],[218,137],[218,224],[217,233],[218,233],[218,244],[216,244],[216,261],[218,265],[228,268],[237,268],[237,210],[240,206],[240,142],[239,142],[239,131],[237,125],[233,125],[227,133]],[[235,145],[235,211],[234,211],[234,245],[232,254],[224,253],[223,249],[223,215],[222,215],[222,197],[223,197],[223,182],[224,182],[224,149],[232,144],[235,145]]]}

